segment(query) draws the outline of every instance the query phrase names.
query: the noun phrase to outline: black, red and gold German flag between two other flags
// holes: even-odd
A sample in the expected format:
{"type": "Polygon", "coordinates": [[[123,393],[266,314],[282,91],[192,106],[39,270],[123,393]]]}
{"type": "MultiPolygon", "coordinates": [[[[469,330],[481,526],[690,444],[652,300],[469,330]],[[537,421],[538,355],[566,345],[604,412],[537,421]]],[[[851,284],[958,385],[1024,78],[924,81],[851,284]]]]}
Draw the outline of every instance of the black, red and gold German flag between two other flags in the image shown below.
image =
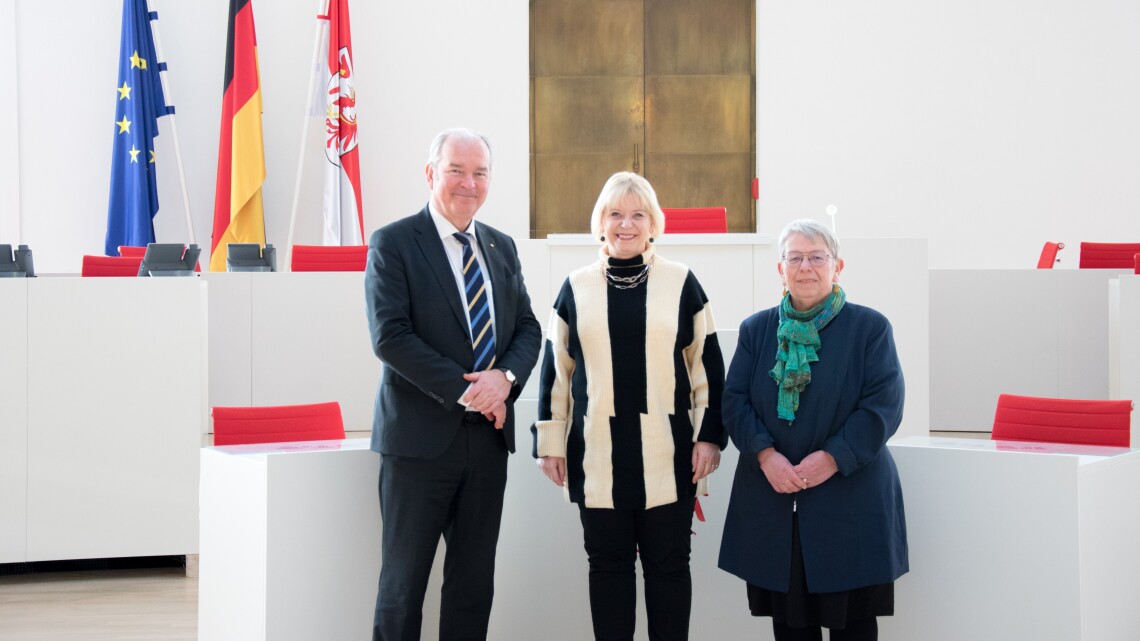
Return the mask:
{"type": "Polygon", "coordinates": [[[266,219],[261,209],[266,154],[261,137],[261,78],[252,0],[229,0],[220,138],[213,242],[210,244],[211,271],[226,270],[229,243],[266,244],[266,219]]]}

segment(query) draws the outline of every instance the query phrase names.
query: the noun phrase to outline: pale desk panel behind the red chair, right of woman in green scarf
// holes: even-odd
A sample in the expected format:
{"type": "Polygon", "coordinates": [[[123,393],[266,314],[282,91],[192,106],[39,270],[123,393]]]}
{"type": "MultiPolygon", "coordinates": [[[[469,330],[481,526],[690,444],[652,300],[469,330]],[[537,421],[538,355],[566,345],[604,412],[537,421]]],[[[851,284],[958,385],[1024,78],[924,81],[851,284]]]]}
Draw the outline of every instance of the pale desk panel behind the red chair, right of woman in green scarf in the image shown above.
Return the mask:
{"type": "Polygon", "coordinates": [[[930,429],[990,431],[1002,392],[1108,398],[1114,269],[930,270],[930,429]]]}

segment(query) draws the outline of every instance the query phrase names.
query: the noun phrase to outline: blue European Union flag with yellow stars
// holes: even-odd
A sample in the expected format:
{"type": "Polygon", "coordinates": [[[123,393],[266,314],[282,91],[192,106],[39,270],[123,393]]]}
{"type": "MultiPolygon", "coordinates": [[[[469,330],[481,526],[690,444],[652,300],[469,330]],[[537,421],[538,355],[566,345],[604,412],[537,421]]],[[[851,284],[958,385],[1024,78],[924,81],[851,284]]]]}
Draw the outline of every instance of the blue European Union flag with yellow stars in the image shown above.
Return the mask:
{"type": "Polygon", "coordinates": [[[150,21],[157,17],[147,9],[146,0],[123,0],[107,255],[119,255],[119,245],[154,242],[154,214],[158,211],[154,139],[158,119],[174,113],[174,107],[166,105],[158,76],[166,64],[158,62],[154,50],[150,21]]]}

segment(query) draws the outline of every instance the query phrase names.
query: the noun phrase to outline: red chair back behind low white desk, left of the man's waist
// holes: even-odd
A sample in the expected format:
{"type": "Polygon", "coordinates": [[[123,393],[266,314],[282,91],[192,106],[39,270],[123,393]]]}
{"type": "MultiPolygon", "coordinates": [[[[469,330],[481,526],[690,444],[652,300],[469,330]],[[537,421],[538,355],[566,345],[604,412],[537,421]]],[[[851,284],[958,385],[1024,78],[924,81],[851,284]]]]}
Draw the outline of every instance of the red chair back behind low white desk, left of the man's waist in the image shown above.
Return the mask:
{"type": "Polygon", "coordinates": [[[344,438],[341,404],[214,407],[214,445],[337,440],[344,438]]]}

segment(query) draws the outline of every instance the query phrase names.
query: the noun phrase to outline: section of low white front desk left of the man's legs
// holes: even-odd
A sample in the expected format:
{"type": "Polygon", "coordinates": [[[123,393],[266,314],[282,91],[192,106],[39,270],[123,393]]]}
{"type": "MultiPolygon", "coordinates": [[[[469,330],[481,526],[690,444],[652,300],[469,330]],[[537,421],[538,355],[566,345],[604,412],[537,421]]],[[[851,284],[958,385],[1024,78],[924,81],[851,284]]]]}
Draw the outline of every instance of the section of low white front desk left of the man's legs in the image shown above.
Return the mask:
{"type": "Polygon", "coordinates": [[[370,639],[378,478],[367,439],[203,448],[198,639],[370,639]]]}

